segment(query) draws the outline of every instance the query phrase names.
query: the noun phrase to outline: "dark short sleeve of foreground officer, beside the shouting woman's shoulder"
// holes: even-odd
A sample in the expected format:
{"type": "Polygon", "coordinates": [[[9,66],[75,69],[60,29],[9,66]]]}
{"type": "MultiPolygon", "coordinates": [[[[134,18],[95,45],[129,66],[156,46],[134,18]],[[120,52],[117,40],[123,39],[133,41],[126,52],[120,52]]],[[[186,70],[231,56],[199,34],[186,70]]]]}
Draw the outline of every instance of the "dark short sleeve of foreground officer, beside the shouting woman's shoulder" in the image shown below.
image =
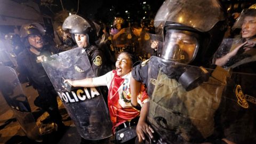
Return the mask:
{"type": "Polygon", "coordinates": [[[142,84],[148,84],[148,62],[149,59],[143,61],[140,65],[133,67],[132,69],[132,77],[138,81],[142,82],[142,84]]]}

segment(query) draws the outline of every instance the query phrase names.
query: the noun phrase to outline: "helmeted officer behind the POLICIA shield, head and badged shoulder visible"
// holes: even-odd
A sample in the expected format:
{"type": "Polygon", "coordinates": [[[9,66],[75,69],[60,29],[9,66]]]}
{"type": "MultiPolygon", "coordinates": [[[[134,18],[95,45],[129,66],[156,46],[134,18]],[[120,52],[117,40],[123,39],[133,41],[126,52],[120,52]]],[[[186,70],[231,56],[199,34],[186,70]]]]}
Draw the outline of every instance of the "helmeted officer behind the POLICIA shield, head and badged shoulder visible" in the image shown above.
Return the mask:
{"type": "Polygon", "coordinates": [[[93,22],[81,15],[70,15],[63,23],[63,30],[69,29],[73,41],[77,45],[73,47],[83,47],[95,76],[101,76],[105,66],[105,57],[103,52],[95,44],[97,33],[93,22]]]}

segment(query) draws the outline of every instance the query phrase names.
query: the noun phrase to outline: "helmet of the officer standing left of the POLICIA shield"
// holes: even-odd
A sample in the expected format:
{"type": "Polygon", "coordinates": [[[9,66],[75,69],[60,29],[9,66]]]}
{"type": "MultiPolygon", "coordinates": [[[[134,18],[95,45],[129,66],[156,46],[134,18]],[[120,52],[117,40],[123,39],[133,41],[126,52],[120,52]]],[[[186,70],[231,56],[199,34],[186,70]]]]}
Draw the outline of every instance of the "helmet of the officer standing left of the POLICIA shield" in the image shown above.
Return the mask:
{"type": "Polygon", "coordinates": [[[31,35],[43,36],[45,35],[45,30],[39,23],[27,23],[25,25],[22,25],[20,28],[20,39],[26,47],[30,46],[27,37],[31,35]]]}

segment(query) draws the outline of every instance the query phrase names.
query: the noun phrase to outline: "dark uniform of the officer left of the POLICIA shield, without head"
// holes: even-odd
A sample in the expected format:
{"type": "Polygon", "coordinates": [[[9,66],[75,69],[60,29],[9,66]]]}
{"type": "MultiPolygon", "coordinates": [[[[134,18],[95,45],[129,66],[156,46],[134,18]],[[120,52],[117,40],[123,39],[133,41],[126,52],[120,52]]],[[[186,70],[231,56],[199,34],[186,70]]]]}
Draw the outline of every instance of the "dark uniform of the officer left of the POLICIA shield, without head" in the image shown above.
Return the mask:
{"type": "Polygon", "coordinates": [[[44,45],[39,55],[31,52],[29,49],[23,50],[18,57],[18,69],[21,74],[29,74],[33,80],[33,87],[37,90],[39,96],[34,101],[35,106],[47,111],[53,122],[62,124],[61,115],[58,111],[57,93],[47,76],[44,67],[37,57],[40,55],[53,55],[60,53],[62,50],[55,46],[44,45]]]}

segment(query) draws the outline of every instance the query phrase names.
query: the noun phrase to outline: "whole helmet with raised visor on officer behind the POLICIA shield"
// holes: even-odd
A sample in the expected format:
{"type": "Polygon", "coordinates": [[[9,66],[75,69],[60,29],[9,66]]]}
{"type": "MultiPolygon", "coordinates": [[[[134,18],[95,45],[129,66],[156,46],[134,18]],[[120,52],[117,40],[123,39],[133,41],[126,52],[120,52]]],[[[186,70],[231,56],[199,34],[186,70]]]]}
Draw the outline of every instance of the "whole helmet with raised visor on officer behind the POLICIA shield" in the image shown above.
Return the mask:
{"type": "Polygon", "coordinates": [[[70,15],[62,25],[63,30],[69,29],[73,41],[76,42],[75,34],[86,35],[86,42],[91,45],[97,38],[96,28],[93,22],[81,15],[70,15]]]}

